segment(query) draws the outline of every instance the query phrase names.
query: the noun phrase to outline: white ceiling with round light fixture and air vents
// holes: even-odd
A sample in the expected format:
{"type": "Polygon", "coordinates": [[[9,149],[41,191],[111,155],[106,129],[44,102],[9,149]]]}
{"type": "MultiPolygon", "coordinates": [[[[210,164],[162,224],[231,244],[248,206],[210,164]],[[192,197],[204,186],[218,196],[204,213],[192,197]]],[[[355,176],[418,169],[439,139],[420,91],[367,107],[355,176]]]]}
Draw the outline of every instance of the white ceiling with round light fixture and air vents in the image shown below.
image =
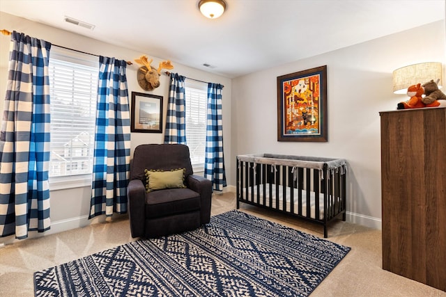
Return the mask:
{"type": "Polygon", "coordinates": [[[0,11],[229,78],[445,19],[445,0],[225,1],[218,19],[198,0],[1,0],[0,11]]]}

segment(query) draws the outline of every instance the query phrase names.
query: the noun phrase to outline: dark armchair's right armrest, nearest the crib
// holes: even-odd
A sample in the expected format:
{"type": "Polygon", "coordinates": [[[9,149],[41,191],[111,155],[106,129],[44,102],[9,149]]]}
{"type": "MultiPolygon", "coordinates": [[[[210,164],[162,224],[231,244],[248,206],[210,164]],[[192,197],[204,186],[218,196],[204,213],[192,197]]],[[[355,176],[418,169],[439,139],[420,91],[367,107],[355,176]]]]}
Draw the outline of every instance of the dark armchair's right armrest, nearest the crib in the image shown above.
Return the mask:
{"type": "Polygon", "coordinates": [[[212,202],[212,182],[199,175],[189,175],[186,184],[192,191],[200,194],[200,224],[209,223],[210,205],[212,202]]]}

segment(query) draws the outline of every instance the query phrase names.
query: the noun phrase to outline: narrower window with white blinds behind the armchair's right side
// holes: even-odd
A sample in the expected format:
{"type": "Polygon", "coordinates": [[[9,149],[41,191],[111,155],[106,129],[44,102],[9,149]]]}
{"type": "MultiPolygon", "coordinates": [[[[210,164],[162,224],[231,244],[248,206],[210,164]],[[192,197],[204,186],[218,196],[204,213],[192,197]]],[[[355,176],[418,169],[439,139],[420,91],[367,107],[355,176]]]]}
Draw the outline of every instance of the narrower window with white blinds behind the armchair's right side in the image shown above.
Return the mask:
{"type": "Polygon", "coordinates": [[[204,170],[206,152],[206,122],[208,85],[199,81],[185,80],[186,141],[194,172],[204,170]]]}

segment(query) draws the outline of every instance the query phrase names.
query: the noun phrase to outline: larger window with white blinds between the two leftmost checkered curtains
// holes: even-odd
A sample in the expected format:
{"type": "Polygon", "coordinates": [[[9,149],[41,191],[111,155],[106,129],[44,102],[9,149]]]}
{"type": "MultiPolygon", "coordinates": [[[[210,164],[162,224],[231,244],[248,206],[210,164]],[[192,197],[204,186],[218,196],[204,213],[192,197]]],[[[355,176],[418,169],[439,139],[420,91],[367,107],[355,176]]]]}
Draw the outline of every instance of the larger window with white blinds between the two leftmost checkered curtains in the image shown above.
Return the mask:
{"type": "Polygon", "coordinates": [[[49,56],[51,183],[74,175],[91,183],[99,70],[98,58],[87,56],[53,49],[49,56]]]}

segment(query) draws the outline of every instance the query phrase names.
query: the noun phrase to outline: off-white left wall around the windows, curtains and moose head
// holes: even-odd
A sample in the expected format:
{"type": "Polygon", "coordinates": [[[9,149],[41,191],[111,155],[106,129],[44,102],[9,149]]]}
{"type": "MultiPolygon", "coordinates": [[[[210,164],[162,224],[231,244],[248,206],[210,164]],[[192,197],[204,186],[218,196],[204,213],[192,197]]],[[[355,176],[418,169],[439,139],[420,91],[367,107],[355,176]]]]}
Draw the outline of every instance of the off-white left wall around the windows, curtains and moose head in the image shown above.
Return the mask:
{"type": "MultiPolygon", "coordinates": [[[[25,33],[35,38],[40,38],[51,42],[53,45],[61,45],[71,49],[77,49],[79,51],[85,51],[91,54],[100,54],[102,56],[116,57],[126,61],[133,61],[135,58],[139,58],[142,54],[150,56],[149,52],[137,52],[131,49],[125,49],[122,47],[116,47],[109,45],[105,42],[86,38],[82,35],[77,35],[54,27],[45,26],[37,22],[31,22],[20,17],[15,17],[6,13],[0,12],[0,28],[8,31],[17,31],[25,33]]],[[[84,29],[79,29],[82,32],[84,29]]],[[[8,60],[10,48],[10,36],[0,35],[0,111],[3,114],[3,100],[6,93],[6,81],[8,79],[8,60]]],[[[169,57],[157,58],[153,57],[153,64],[157,65],[164,59],[169,57]]],[[[203,72],[191,67],[186,67],[172,61],[174,70],[171,72],[178,72],[179,74],[192,79],[199,79],[201,81],[208,81],[213,83],[221,83],[224,85],[223,99],[222,99],[222,114],[223,114],[223,132],[224,132],[224,153],[225,153],[225,166],[227,175],[231,175],[233,156],[231,156],[231,79],[221,77],[208,72],[203,72]]],[[[137,83],[137,70],[140,65],[134,63],[127,67],[127,79],[129,90],[129,101],[131,102],[131,93],[150,93],[154,95],[163,96],[164,101],[164,121],[166,119],[167,111],[167,99],[169,95],[169,77],[162,75],[161,86],[151,92],[145,92],[137,83]]],[[[163,123],[163,128],[165,122],[163,123]]],[[[162,143],[164,141],[164,134],[149,134],[149,133],[132,133],[131,135],[131,156],[133,155],[134,148],[137,145],[144,143],[162,143]]],[[[52,220],[52,230],[45,232],[45,234],[52,234],[54,232],[60,232],[68,230],[73,227],[82,227],[90,223],[95,223],[98,220],[104,220],[105,216],[100,216],[93,220],[88,220],[91,198],[91,186],[85,186],[80,188],[71,188],[67,190],[50,191],[50,203],[51,211],[50,216],[52,220]]],[[[130,229],[129,229],[130,232],[130,229]]],[[[31,233],[31,236],[35,234],[31,233]]],[[[39,234],[40,235],[40,234],[39,234]]],[[[8,236],[0,239],[1,242],[9,243],[14,240],[14,236],[8,236]]]]}

